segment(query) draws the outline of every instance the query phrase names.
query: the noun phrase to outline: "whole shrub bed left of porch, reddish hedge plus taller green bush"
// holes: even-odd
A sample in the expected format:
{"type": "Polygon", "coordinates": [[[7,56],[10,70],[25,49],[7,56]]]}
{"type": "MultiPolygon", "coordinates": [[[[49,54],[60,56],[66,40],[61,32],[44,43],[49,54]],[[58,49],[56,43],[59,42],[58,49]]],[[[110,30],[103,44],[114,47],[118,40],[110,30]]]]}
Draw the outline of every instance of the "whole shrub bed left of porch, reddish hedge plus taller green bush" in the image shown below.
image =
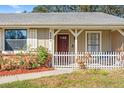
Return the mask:
{"type": "Polygon", "coordinates": [[[13,56],[0,56],[0,70],[34,69],[40,66],[48,66],[51,55],[44,47],[39,47],[37,54],[22,52],[13,56]]]}

